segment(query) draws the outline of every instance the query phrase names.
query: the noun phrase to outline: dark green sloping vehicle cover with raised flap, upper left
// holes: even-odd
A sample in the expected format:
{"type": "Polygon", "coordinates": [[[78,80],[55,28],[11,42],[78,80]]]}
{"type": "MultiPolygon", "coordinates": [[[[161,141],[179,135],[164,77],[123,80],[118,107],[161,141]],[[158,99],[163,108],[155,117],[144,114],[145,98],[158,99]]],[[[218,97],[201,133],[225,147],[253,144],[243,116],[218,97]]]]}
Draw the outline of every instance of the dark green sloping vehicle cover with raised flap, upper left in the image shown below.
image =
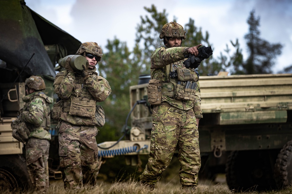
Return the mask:
{"type": "Polygon", "coordinates": [[[79,40],[32,11],[23,0],[1,0],[0,8],[0,59],[20,71],[33,56],[24,72],[55,76],[59,58],[67,51],[75,54],[80,46],[79,40]]]}

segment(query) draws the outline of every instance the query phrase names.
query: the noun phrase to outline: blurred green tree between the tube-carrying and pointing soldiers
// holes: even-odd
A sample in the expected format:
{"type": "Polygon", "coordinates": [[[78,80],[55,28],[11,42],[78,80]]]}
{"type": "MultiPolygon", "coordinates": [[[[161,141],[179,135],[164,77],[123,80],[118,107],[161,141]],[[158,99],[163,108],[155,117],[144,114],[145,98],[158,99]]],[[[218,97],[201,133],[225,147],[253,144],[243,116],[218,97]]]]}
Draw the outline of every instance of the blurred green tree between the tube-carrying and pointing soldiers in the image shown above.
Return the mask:
{"type": "Polygon", "coordinates": [[[117,38],[107,40],[107,53],[98,63],[99,74],[107,79],[112,92],[102,107],[105,110],[106,124],[102,129],[107,129],[106,140],[117,140],[122,135],[128,112],[130,111],[129,88],[138,83],[137,72],[140,67],[130,58],[126,42],[120,42],[117,38]]]}

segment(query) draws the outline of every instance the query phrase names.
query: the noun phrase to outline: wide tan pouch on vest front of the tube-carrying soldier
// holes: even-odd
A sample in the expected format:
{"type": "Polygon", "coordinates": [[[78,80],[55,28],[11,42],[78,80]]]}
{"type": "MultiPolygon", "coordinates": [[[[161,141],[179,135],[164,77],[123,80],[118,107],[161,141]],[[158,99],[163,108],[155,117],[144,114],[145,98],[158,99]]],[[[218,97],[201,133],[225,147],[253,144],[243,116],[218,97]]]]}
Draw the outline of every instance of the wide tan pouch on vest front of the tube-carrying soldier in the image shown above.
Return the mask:
{"type": "Polygon", "coordinates": [[[70,105],[70,115],[81,117],[95,117],[96,102],[95,100],[72,98],[70,105]]]}

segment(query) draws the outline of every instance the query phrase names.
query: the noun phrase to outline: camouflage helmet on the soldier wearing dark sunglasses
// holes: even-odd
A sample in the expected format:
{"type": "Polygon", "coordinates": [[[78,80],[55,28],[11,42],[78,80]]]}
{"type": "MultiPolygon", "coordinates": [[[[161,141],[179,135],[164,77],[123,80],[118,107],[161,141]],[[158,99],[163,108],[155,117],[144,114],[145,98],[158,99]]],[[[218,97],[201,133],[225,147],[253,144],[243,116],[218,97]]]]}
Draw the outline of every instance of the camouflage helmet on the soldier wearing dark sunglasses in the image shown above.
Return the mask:
{"type": "Polygon", "coordinates": [[[100,46],[98,46],[96,42],[84,42],[81,44],[78,51],[76,52],[77,55],[82,55],[84,57],[86,53],[98,56],[99,60],[97,62],[101,60],[101,57],[103,55],[102,49],[100,48],[100,46]]]}

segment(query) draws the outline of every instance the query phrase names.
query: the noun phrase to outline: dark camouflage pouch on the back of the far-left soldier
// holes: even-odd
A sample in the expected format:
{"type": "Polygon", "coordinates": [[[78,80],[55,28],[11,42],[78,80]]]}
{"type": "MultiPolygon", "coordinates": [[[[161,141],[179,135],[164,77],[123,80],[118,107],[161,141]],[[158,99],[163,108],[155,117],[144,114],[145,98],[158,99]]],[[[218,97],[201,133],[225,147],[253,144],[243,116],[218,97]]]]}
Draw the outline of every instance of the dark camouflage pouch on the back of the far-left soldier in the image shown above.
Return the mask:
{"type": "Polygon", "coordinates": [[[12,136],[18,141],[25,143],[28,140],[30,135],[30,131],[27,128],[25,122],[23,122],[20,117],[16,118],[16,120],[11,123],[12,128],[12,136]]]}

